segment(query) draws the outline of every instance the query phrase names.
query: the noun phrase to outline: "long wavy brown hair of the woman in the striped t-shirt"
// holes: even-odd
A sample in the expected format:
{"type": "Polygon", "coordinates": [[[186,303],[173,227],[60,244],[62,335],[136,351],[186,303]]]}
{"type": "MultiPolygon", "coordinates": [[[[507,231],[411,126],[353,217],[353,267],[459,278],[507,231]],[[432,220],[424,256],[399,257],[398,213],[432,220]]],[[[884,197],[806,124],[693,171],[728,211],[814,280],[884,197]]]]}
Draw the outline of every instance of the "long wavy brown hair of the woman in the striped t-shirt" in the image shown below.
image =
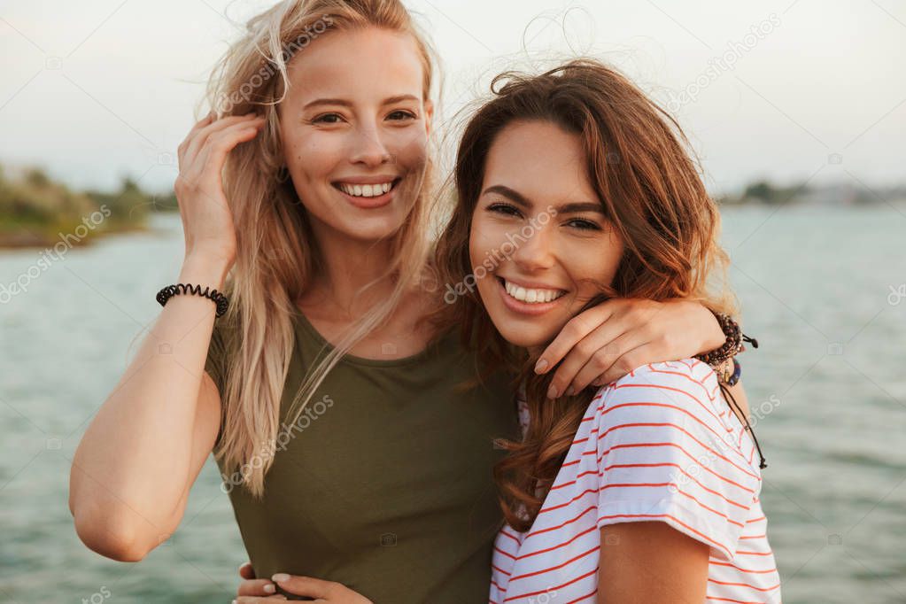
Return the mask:
{"type": "MultiPolygon", "coordinates": [[[[516,120],[544,120],[581,137],[588,177],[624,242],[611,286],[586,307],[620,296],[696,300],[717,312],[735,312],[726,287],[728,256],[717,243],[718,209],[670,114],[621,73],[587,59],[540,75],[502,73],[491,92],[458,146],[456,206],[433,263],[439,283],[464,283],[474,271],[468,237],[496,137],[516,120]],[[708,283],[715,276],[718,283],[708,283]]],[[[441,320],[458,325],[483,364],[516,369],[515,384],[525,385],[531,422],[522,440],[499,441],[508,454],[496,465],[495,478],[506,523],[526,531],[563,465],[594,388],[547,400],[554,371],[535,375],[535,359],[500,337],[477,291],[465,290],[450,306],[441,320]]]]}

